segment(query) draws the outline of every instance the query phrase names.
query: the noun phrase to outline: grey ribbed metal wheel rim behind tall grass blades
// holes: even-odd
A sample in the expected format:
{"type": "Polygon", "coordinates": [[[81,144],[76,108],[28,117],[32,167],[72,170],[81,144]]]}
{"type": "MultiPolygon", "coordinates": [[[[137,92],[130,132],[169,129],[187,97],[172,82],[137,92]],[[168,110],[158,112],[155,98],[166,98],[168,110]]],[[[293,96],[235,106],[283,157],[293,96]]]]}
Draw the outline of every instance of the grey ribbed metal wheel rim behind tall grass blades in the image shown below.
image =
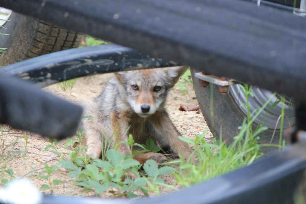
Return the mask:
{"type": "MultiPolygon", "coordinates": [[[[254,111],[256,108],[262,108],[263,105],[266,103],[266,101],[272,97],[272,92],[261,89],[258,87],[252,87],[252,92],[254,93],[254,97],[249,96],[249,106],[250,106],[250,114],[252,111],[254,111]]],[[[246,96],[243,92],[241,92],[241,87],[239,85],[232,85],[230,86],[229,89],[229,94],[233,96],[233,99],[241,109],[241,111],[247,115],[247,108],[242,106],[242,104],[246,103],[246,96]]],[[[272,106],[272,104],[279,100],[278,97],[274,97],[270,103],[263,109],[263,111],[259,114],[258,118],[255,119],[255,123],[259,124],[260,123],[263,126],[266,126],[270,129],[280,129],[281,127],[281,120],[278,118],[282,114],[282,105],[285,107],[285,118],[284,118],[284,123],[283,123],[283,128],[288,128],[294,124],[294,105],[293,103],[288,103],[285,102],[283,103],[278,103],[274,108],[272,108],[269,111],[269,108],[272,106]],[[264,116],[267,114],[266,116],[264,116]],[[277,123],[278,121],[278,123],[277,123]]]]}

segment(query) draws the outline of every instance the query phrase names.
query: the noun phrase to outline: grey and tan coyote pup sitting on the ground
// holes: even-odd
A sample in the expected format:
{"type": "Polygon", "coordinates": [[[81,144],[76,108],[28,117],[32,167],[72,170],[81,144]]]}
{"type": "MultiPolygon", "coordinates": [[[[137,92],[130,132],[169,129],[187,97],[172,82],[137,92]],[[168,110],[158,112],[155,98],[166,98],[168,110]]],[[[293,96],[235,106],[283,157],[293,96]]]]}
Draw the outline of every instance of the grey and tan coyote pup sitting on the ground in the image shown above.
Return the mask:
{"type": "MultiPolygon", "coordinates": [[[[119,142],[128,141],[128,135],[132,134],[139,144],[152,138],[162,149],[170,148],[176,155],[180,153],[188,158],[192,149],[178,138],[180,133],[165,109],[169,90],[187,68],[178,66],[114,73],[102,93],[93,101],[84,103],[84,115],[93,116],[82,122],[86,131],[83,144],[88,145],[86,154],[91,158],[101,157],[102,140],[111,148],[118,145],[117,150],[123,155],[129,154],[129,145],[119,142]],[[117,135],[118,144],[114,144],[117,135]]],[[[141,164],[148,159],[157,163],[167,160],[161,153],[142,153],[134,159],[141,164]]]]}

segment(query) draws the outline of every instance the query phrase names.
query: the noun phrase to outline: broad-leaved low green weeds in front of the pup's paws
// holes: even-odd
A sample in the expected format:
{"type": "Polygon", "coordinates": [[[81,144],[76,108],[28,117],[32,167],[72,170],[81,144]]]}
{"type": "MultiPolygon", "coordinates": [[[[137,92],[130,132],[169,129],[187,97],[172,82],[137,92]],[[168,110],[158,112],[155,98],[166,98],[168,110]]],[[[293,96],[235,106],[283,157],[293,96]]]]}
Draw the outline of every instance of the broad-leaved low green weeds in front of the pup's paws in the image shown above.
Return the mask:
{"type": "MultiPolygon", "coordinates": [[[[80,130],[79,133],[78,139],[81,142],[84,130],[80,130]]],[[[76,141],[72,140],[67,144],[70,146],[73,142],[76,141]]],[[[153,144],[152,142],[148,141],[145,147],[157,150],[154,149],[154,142],[153,144]]],[[[75,178],[76,185],[84,187],[84,191],[93,191],[97,195],[108,192],[114,197],[136,197],[135,191],[141,191],[146,196],[148,196],[147,191],[159,193],[159,186],[167,185],[157,176],[170,173],[170,168],[163,167],[159,169],[154,161],[148,161],[144,165],[146,177],[140,177],[139,169],[141,165],[132,158],[136,154],[149,150],[145,149],[143,145],[135,143],[132,135],[129,135],[127,143],[131,147],[129,155],[123,156],[116,149],[107,149],[105,152],[106,157],[103,160],[94,159],[92,161],[84,154],[86,147],[77,147],[76,149],[66,147],[65,149],[71,150],[68,156],[70,160],[63,159],[60,164],[70,171],[68,176],[75,178]],[[143,150],[133,151],[134,146],[142,147],[143,150]],[[78,152],[79,150],[81,150],[80,153],[78,152]],[[82,154],[82,156],[77,156],[79,154],[82,154]],[[145,187],[146,184],[147,187],[145,187]]]]}

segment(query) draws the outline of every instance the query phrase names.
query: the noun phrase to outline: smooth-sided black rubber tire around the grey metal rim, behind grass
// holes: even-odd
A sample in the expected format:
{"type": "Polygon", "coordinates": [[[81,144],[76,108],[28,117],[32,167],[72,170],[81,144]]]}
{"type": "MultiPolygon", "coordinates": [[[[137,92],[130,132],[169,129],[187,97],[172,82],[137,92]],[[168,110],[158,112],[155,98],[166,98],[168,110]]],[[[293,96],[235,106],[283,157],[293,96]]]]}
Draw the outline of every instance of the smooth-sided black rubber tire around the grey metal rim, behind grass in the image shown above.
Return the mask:
{"type": "MultiPolygon", "coordinates": [[[[220,138],[221,132],[222,140],[226,140],[226,143],[229,145],[233,142],[234,137],[238,135],[238,127],[241,126],[246,115],[241,111],[230,93],[221,94],[219,87],[211,83],[206,88],[203,88],[199,83],[199,79],[194,77],[196,72],[201,72],[201,70],[191,69],[196,98],[200,104],[207,126],[216,139],[220,138]]],[[[253,127],[255,128],[256,124],[253,127]]],[[[270,143],[273,131],[274,129],[267,129],[259,134],[260,143],[270,143]]],[[[285,132],[286,130],[283,131],[283,133],[285,132]]],[[[276,130],[271,142],[272,144],[279,144],[279,135],[280,131],[276,130]]],[[[289,140],[286,139],[285,142],[288,144],[289,140]]],[[[277,148],[269,146],[261,148],[261,151],[269,153],[275,149],[277,148]]]]}

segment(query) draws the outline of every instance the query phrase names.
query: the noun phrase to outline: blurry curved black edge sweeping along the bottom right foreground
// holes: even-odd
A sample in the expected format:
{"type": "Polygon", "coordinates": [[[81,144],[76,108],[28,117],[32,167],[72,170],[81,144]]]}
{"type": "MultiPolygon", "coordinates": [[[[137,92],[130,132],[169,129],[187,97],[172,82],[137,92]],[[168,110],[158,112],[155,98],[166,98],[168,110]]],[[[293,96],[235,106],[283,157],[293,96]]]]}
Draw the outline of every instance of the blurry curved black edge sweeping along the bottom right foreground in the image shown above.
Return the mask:
{"type": "MultiPolygon", "coordinates": [[[[248,167],[169,195],[150,199],[67,198],[45,195],[43,204],[293,203],[304,182],[306,144],[299,143],[248,167]]],[[[299,194],[300,193],[300,194],[299,194]]]]}

